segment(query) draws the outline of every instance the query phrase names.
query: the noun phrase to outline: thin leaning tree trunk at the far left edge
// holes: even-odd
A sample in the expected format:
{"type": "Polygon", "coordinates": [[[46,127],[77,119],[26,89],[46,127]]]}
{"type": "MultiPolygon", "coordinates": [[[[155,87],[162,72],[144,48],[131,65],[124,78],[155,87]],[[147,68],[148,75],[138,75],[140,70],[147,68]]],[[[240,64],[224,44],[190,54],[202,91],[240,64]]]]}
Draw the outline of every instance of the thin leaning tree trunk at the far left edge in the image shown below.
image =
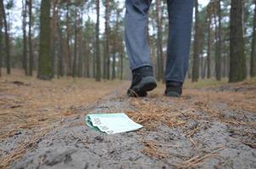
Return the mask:
{"type": "Polygon", "coordinates": [[[9,48],[9,36],[8,36],[8,24],[5,14],[5,9],[3,5],[3,0],[0,0],[0,8],[2,9],[4,33],[5,33],[5,52],[6,52],[6,69],[7,74],[11,74],[11,62],[10,62],[10,48],[9,48]]]}

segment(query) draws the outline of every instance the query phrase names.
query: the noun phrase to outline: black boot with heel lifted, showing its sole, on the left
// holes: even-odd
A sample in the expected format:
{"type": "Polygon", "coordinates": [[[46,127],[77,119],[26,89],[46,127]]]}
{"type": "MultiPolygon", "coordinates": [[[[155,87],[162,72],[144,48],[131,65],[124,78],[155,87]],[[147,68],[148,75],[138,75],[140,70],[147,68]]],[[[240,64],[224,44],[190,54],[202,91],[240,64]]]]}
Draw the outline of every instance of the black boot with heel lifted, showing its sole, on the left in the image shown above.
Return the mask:
{"type": "Polygon", "coordinates": [[[147,96],[147,91],[151,91],[156,87],[157,82],[153,77],[152,67],[136,68],[132,71],[131,87],[127,91],[127,95],[131,97],[144,97],[147,96]]]}

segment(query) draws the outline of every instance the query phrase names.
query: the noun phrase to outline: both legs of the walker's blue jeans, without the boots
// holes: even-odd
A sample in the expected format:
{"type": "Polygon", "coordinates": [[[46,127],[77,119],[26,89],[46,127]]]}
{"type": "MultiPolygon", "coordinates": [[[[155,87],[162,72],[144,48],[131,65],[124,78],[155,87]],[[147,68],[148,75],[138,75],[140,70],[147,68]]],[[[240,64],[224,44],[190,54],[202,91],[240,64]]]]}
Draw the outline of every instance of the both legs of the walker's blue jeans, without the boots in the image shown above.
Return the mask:
{"type": "MultiPolygon", "coordinates": [[[[131,69],[152,66],[147,41],[147,11],[152,0],[126,0],[125,44],[131,69]]],[[[167,0],[169,41],[165,80],[184,82],[188,68],[193,0],[167,0]]]]}

